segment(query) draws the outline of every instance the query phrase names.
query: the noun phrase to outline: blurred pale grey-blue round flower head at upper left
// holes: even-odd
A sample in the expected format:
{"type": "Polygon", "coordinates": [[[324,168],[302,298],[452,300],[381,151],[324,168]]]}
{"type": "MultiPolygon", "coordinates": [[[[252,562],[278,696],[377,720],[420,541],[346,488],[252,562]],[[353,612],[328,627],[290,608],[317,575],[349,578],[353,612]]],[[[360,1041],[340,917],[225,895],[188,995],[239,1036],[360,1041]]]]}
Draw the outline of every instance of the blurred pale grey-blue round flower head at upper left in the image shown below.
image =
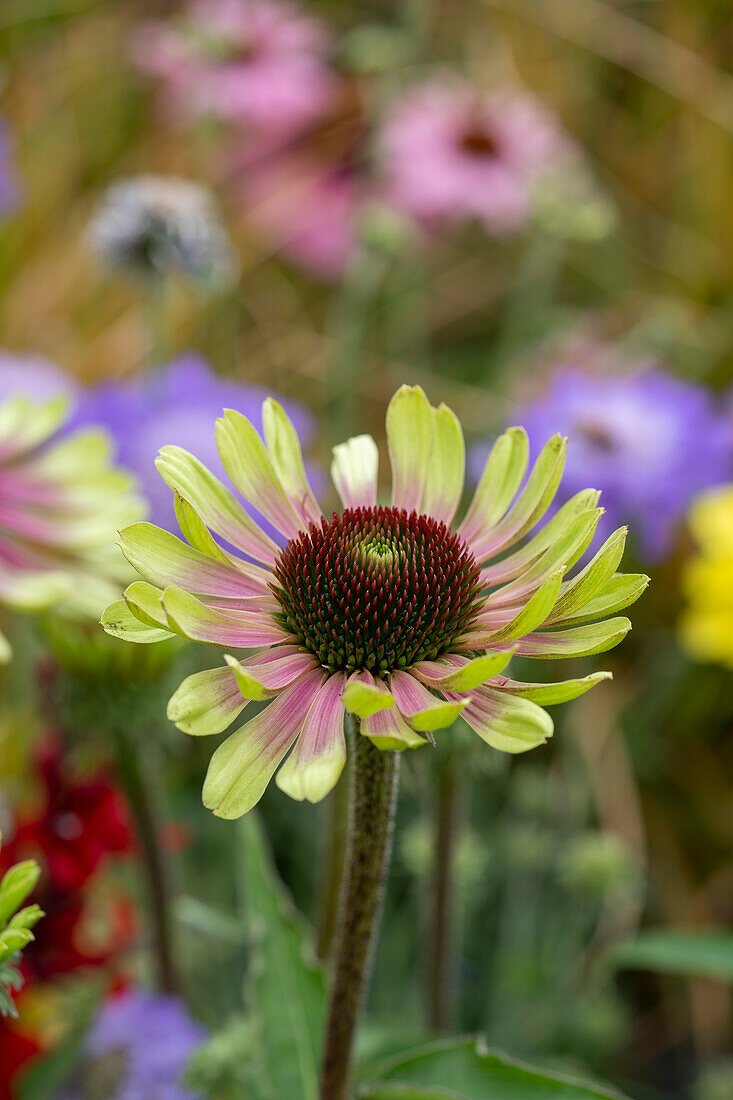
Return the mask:
{"type": "Polygon", "coordinates": [[[231,282],[237,257],[206,188],[173,176],[113,184],[89,226],[96,252],[116,267],[147,276],[183,272],[231,282]]]}

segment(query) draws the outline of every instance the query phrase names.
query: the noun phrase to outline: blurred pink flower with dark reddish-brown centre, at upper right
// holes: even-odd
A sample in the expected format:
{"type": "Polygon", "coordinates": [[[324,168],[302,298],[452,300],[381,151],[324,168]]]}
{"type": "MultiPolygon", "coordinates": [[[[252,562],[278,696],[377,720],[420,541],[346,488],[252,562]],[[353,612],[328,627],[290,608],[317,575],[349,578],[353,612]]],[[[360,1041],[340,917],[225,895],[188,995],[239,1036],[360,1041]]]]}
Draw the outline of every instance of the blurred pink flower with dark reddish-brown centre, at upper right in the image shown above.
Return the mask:
{"type": "Polygon", "coordinates": [[[532,194],[575,146],[532,97],[428,81],[386,116],[378,155],[387,197],[428,228],[478,220],[494,235],[522,230],[532,194]]]}

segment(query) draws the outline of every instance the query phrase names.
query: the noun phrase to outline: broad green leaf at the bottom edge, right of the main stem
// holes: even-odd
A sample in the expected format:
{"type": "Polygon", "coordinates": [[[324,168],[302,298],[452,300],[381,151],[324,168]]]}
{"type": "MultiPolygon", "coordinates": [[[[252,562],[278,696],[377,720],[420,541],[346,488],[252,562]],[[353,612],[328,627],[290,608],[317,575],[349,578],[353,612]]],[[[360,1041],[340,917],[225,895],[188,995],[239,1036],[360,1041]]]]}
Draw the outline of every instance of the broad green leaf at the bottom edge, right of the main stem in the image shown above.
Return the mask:
{"type": "Polygon", "coordinates": [[[536,1069],[490,1050],[481,1037],[438,1040],[397,1055],[361,1100],[619,1100],[590,1081],[536,1069]]]}

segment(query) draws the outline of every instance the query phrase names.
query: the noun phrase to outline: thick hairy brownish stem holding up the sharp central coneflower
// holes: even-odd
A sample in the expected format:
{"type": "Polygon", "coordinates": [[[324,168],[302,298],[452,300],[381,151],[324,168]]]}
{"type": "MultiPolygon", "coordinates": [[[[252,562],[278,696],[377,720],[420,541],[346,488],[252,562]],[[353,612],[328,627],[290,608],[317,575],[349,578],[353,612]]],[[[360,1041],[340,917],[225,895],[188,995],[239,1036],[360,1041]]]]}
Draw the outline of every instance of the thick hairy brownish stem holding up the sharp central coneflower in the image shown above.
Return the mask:
{"type": "Polygon", "coordinates": [[[351,1049],[371,968],[390,865],[400,758],[362,737],[347,716],[351,805],[333,980],[326,1023],[320,1100],[348,1100],[351,1049]]]}

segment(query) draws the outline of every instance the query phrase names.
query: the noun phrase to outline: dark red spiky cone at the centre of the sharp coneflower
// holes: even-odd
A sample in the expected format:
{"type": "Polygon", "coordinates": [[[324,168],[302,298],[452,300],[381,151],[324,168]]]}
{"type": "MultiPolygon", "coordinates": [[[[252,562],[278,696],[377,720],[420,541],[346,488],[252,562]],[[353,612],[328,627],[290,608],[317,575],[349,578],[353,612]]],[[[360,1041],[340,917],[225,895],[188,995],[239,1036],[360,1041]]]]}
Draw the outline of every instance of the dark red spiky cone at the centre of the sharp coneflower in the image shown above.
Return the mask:
{"type": "Polygon", "coordinates": [[[347,508],[282,550],[280,620],[330,672],[385,676],[455,648],[480,605],[479,564],[440,520],[347,508]]]}

